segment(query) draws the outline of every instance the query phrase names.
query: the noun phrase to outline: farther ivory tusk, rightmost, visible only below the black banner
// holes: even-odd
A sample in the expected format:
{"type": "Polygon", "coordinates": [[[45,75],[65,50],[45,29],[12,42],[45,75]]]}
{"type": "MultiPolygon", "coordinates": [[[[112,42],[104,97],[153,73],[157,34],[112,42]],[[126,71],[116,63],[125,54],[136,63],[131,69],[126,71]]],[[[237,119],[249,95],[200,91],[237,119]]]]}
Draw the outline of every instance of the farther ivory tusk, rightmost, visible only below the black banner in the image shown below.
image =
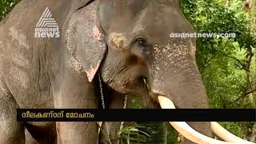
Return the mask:
{"type": "Polygon", "coordinates": [[[239,138],[235,136],[234,134],[231,134],[228,130],[223,128],[218,122],[210,122],[211,130],[212,132],[218,136],[219,138],[222,138],[226,142],[238,142],[243,144],[255,144],[254,142],[246,141],[242,138],[239,138]]]}

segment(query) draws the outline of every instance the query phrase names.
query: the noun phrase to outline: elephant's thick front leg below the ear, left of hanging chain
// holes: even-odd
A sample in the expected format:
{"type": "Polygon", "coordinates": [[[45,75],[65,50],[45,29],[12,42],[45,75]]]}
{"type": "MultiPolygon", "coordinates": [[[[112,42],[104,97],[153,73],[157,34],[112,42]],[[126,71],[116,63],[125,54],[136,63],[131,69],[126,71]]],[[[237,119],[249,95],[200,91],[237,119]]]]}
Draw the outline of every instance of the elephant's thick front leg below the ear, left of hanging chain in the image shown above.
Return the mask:
{"type": "MultiPolygon", "coordinates": [[[[94,84],[86,82],[86,74],[68,68],[56,80],[54,108],[96,109],[98,98],[94,94],[94,84]]],[[[96,122],[56,122],[58,144],[96,144],[98,126],[96,122]]]]}

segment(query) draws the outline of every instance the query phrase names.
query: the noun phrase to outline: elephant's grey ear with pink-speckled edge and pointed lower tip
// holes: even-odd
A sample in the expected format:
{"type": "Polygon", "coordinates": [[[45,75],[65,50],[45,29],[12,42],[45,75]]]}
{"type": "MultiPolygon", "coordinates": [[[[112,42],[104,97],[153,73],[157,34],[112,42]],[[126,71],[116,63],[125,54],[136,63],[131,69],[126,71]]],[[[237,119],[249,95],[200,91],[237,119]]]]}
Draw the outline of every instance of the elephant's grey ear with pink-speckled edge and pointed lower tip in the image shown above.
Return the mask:
{"type": "Polygon", "coordinates": [[[106,43],[97,17],[98,2],[77,10],[72,14],[66,30],[66,47],[82,64],[89,82],[106,54],[106,43]]]}

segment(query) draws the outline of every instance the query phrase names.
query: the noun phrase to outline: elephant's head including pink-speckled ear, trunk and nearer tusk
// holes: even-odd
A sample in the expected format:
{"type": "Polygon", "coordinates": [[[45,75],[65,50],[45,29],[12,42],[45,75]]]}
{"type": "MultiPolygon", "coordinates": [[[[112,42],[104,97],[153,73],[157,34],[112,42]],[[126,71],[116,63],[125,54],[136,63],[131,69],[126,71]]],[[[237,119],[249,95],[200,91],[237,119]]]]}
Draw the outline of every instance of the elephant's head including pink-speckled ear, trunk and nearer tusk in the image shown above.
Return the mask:
{"type": "MultiPolygon", "coordinates": [[[[150,108],[160,106],[159,102],[165,108],[165,98],[178,108],[208,108],[196,65],[195,39],[170,38],[173,33],[194,33],[178,0],[104,0],[73,14],[66,45],[88,82],[94,82],[99,72],[111,89],[141,96],[150,108]]],[[[216,142],[194,134],[190,126],[173,124],[194,142],[200,138],[202,143],[216,142]]],[[[210,135],[210,122],[192,126],[210,135]]]]}

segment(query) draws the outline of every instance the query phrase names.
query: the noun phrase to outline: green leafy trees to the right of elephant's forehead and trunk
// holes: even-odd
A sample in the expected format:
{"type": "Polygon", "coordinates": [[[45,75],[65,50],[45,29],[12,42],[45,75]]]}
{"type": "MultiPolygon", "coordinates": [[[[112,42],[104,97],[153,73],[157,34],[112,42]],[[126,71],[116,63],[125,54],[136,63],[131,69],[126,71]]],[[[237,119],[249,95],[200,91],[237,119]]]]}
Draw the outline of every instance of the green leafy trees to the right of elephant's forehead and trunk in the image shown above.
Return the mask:
{"type": "MultiPolygon", "coordinates": [[[[230,2],[226,7],[226,0],[183,0],[181,7],[198,33],[236,34],[235,38],[197,38],[198,69],[210,105],[214,108],[255,108],[255,92],[246,95],[244,92],[256,89],[256,9],[245,11],[242,0],[230,2]],[[246,70],[250,49],[254,56],[246,70]],[[250,82],[246,72],[250,73],[250,82]],[[238,101],[239,98],[242,100],[238,101]]],[[[222,122],[222,125],[246,139],[255,131],[255,122],[222,122]]]]}

